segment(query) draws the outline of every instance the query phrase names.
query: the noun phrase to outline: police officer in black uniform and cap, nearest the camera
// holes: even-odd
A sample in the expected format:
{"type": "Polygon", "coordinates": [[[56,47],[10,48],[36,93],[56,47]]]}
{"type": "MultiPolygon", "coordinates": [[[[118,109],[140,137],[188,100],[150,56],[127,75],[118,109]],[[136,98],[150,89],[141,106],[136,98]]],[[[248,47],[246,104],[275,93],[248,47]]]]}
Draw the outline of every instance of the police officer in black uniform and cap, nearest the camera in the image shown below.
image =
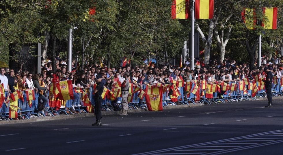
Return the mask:
{"type": "Polygon", "coordinates": [[[94,105],[94,110],[95,110],[95,117],[96,117],[96,122],[92,124],[92,126],[101,126],[101,103],[102,103],[102,97],[101,94],[103,93],[103,82],[101,82],[102,80],[102,75],[99,74],[96,77],[97,80],[97,85],[96,85],[96,89],[94,90],[94,101],[95,101],[95,105],[94,105]]]}

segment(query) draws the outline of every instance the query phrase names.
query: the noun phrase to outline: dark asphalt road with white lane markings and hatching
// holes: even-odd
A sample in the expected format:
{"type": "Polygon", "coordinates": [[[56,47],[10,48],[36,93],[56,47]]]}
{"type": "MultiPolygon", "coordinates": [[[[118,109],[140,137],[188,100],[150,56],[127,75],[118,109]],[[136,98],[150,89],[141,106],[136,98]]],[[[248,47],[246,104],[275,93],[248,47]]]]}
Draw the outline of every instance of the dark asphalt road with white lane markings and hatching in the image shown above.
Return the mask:
{"type": "Polygon", "coordinates": [[[283,102],[0,125],[0,154],[282,154],[283,102]]]}

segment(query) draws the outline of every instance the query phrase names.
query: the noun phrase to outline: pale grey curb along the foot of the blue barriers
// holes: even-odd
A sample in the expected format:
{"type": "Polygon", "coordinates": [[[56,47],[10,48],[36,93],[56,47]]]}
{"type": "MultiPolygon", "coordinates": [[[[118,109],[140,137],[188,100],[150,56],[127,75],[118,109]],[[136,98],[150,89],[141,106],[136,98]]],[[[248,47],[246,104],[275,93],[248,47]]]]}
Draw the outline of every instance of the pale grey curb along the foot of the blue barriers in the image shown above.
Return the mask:
{"type": "MultiPolygon", "coordinates": [[[[163,107],[163,109],[181,109],[181,108],[188,108],[188,107],[199,107],[199,106],[204,106],[202,103],[198,104],[189,104],[189,105],[168,105],[163,107]]],[[[132,109],[128,110],[129,113],[134,113],[134,112],[145,112],[148,111],[147,109],[132,109]]],[[[120,111],[101,111],[102,116],[106,115],[115,115],[115,114],[120,114],[120,111]]],[[[81,113],[81,114],[73,114],[73,115],[65,115],[61,114],[60,116],[46,116],[46,117],[40,117],[40,118],[30,118],[24,119],[24,120],[1,120],[0,125],[8,125],[8,124],[19,124],[19,123],[34,123],[34,122],[42,122],[46,120],[62,120],[62,119],[70,119],[70,118],[83,118],[83,117],[93,117],[94,113],[81,113]]]]}

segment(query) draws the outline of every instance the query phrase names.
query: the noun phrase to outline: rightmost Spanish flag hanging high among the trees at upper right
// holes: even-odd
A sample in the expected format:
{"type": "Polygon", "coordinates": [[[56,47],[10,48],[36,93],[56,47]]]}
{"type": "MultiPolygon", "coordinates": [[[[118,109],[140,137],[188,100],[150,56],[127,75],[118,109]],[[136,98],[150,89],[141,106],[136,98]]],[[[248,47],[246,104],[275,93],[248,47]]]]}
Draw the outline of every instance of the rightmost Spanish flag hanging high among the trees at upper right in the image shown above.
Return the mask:
{"type": "Polygon", "coordinates": [[[277,7],[264,7],[263,14],[265,19],[263,19],[262,26],[265,29],[277,29],[277,7]]]}

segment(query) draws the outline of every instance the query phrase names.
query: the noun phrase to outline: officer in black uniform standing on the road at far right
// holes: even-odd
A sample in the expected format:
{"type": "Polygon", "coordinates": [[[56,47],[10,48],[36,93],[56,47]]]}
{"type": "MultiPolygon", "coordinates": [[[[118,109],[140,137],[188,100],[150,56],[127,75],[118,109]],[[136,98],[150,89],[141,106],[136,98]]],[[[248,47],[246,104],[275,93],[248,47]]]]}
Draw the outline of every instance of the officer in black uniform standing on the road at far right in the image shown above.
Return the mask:
{"type": "Polygon", "coordinates": [[[266,73],[266,79],[262,80],[265,83],[265,90],[266,90],[266,97],[268,99],[268,105],[265,106],[267,107],[272,107],[272,95],[271,95],[271,88],[272,88],[272,79],[273,79],[273,74],[271,72],[273,70],[272,67],[265,67],[264,71],[266,73]]]}

